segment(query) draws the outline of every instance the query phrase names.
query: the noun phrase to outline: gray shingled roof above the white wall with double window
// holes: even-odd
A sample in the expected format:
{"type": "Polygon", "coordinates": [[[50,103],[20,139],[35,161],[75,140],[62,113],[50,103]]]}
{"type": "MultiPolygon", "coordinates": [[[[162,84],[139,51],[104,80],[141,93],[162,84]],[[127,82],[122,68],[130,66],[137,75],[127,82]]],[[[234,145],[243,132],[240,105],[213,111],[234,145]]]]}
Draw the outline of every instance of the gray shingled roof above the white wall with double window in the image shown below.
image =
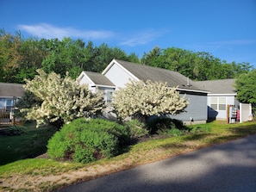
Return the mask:
{"type": "Polygon", "coordinates": [[[203,90],[209,90],[211,94],[235,94],[234,78],[210,80],[210,81],[198,81],[195,82],[197,87],[203,90]]]}

